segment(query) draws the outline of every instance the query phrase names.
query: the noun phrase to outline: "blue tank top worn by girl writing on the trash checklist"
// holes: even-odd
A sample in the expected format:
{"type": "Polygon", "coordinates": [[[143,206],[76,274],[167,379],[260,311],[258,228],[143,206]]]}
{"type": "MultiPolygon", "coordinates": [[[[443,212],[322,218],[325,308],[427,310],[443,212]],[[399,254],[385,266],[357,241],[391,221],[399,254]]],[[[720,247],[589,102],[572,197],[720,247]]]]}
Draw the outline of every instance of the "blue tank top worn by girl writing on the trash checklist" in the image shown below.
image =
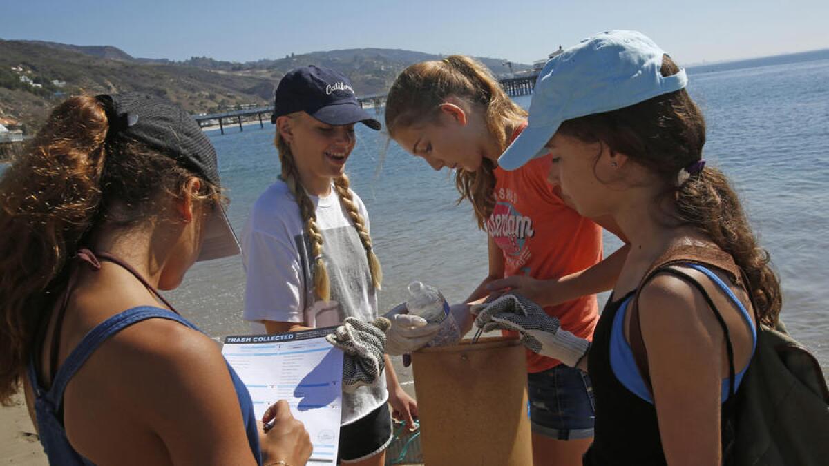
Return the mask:
{"type": "MultiPolygon", "coordinates": [[[[133,323],[148,318],[166,318],[201,332],[186,319],[167,309],[142,306],[116,314],[93,328],[90,333],[87,333],[57,370],[49,390],[44,390],[38,380],[34,356],[30,359],[27,376],[35,394],[37,430],[50,464],[70,466],[93,464],[89,459],[85,459],[76,452],[66,437],[66,430],[63,425],[63,392],[72,376],[75,376],[75,372],[84,365],[101,343],[133,323]]],[[[228,365],[227,370],[230,372],[230,380],[233,381],[236,396],[239,398],[239,406],[242,419],[245,422],[250,451],[253,452],[256,462],[262,464],[262,455],[259,451],[259,430],[254,415],[253,401],[250,399],[250,393],[248,393],[245,384],[242,383],[233,368],[228,365]]]]}

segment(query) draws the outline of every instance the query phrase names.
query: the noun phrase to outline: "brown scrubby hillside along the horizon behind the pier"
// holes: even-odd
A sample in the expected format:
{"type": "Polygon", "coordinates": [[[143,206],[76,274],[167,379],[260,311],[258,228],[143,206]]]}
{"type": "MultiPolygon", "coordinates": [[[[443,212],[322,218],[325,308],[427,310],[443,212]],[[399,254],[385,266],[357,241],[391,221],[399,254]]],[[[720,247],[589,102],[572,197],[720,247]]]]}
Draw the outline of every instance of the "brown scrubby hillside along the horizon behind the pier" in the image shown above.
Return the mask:
{"type": "MultiPolygon", "coordinates": [[[[269,104],[279,79],[297,66],[327,66],[351,78],[357,95],[388,90],[406,66],[441,56],[396,49],[316,51],[244,63],[191,57],[187,61],[135,58],[114,46],[73,46],[0,40],[0,118],[36,130],[48,109],[68,95],[140,90],[181,104],[191,113],[238,104],[269,104]],[[22,80],[25,80],[22,81],[22,80]]],[[[502,59],[479,58],[496,74],[502,59]]],[[[528,65],[513,64],[513,70],[528,65]]]]}

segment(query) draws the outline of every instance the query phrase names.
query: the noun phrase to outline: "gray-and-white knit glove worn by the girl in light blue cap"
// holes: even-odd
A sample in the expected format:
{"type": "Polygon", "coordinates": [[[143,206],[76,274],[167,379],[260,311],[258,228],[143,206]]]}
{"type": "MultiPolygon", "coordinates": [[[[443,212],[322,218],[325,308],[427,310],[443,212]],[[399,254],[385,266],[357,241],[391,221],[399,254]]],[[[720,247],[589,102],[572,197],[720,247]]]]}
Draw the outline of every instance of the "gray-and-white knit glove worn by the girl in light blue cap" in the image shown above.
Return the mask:
{"type": "Polygon", "coordinates": [[[521,343],[531,352],[571,367],[579,363],[590,347],[590,342],[561,329],[558,318],[548,316],[541,306],[520,294],[504,294],[482,306],[475,325],[484,332],[515,330],[521,333],[521,343]]]}

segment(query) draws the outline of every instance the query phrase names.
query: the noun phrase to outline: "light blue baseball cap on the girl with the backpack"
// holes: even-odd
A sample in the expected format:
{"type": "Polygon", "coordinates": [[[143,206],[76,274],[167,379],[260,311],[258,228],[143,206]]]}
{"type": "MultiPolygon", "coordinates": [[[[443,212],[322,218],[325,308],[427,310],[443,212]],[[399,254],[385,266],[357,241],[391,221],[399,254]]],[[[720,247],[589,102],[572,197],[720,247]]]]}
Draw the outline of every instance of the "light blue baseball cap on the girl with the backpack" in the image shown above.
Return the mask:
{"type": "Polygon", "coordinates": [[[544,147],[568,119],[623,109],[688,84],[685,70],[662,76],[666,55],[636,31],[609,31],[581,41],[547,61],[536,80],[526,129],[498,165],[515,170],[549,151],[544,147]]]}

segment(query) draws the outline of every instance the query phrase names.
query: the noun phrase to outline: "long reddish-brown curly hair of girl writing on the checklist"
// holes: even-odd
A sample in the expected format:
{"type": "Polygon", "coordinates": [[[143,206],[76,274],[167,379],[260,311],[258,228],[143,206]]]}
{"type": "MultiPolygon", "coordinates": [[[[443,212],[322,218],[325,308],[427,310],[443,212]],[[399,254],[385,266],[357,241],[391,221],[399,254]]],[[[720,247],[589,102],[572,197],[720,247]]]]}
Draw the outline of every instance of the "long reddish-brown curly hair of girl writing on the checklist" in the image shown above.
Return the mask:
{"type": "MultiPolygon", "coordinates": [[[[109,122],[92,96],[52,110],[27,149],[0,178],[0,403],[17,392],[34,334],[65,288],[68,266],[99,227],[128,228],[158,215],[191,177],[172,158],[138,143],[108,139],[109,122]]],[[[222,200],[201,179],[196,199],[222,200]]]]}

